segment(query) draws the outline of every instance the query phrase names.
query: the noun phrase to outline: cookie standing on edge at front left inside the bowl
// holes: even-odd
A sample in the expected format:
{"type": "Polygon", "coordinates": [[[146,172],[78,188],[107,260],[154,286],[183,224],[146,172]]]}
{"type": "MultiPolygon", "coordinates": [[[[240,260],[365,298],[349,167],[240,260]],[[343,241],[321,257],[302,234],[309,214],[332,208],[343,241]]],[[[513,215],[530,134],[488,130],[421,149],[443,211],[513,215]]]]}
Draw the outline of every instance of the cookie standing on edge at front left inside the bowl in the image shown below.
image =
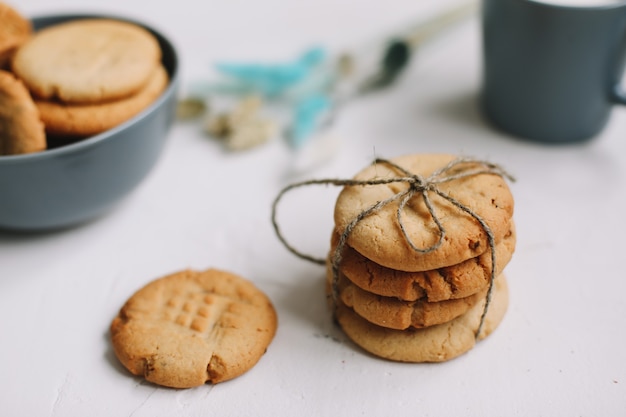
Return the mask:
{"type": "Polygon", "coordinates": [[[28,90],[13,74],[0,70],[0,155],[44,149],[44,126],[28,90]]]}

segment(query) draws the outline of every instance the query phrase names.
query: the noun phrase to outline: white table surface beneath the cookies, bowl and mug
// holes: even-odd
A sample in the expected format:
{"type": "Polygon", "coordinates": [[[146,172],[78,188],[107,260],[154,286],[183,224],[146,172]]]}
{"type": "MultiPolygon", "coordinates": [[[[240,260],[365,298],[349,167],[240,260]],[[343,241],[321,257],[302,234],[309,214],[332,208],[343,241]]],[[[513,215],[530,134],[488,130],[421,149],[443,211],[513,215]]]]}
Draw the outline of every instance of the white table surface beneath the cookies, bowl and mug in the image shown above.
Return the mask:
{"type": "MultiPolygon", "coordinates": [[[[180,50],[183,83],[218,60],[287,60],[311,44],[341,49],[454,1],[20,0],[30,16],[103,11],[153,24],[180,50]]],[[[44,235],[0,233],[2,416],[624,416],[626,415],[626,109],[575,146],[492,129],[477,107],[479,23],[422,51],[391,90],[354,102],[332,133],[335,157],[302,175],[282,139],[228,153],[177,124],[162,159],[115,210],[44,235]],[[375,156],[452,152],[517,177],[518,245],[510,306],[497,331],[441,364],[365,354],[326,310],[324,271],[278,241],[270,205],[286,184],[348,178],[375,156]],[[291,174],[290,174],[291,173],[291,174]],[[108,326],[148,281],[217,267],[272,299],[279,328],[248,373],[173,390],[130,376],[108,326]]],[[[323,256],[338,190],[305,189],[281,206],[285,234],[323,256]]]]}

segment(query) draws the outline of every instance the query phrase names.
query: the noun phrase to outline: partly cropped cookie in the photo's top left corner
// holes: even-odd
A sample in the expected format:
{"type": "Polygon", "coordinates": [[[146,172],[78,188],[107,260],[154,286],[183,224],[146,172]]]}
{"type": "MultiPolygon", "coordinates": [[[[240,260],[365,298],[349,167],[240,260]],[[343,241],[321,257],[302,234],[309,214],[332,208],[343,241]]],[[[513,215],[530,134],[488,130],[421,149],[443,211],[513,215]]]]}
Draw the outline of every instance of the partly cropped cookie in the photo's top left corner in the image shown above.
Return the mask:
{"type": "Polygon", "coordinates": [[[33,31],[30,20],[0,2],[0,69],[8,69],[11,58],[33,31]]]}

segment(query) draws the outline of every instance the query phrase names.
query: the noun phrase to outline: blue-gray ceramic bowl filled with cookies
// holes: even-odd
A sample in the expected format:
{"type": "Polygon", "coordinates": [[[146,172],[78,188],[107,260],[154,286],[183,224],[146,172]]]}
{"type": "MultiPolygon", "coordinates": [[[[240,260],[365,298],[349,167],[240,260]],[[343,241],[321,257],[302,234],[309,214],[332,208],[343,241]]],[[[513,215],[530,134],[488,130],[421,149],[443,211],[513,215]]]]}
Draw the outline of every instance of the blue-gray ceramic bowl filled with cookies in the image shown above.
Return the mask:
{"type": "Polygon", "coordinates": [[[119,203],[150,172],[174,120],[178,57],[160,33],[102,15],[33,19],[35,29],[69,20],[112,17],[139,24],[159,40],[170,75],[166,91],[131,120],[82,141],[39,153],[0,156],[0,229],[41,231],[93,219],[119,203]]]}

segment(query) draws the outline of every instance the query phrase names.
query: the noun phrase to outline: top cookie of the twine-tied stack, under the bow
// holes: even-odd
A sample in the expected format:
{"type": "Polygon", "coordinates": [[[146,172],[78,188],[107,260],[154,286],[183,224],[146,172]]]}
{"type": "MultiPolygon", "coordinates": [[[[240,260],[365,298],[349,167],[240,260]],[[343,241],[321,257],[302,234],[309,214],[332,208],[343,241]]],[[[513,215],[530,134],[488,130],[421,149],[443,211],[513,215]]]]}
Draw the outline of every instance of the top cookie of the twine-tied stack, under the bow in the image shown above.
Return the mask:
{"type": "MultiPolygon", "coordinates": [[[[413,175],[428,177],[445,167],[456,157],[442,154],[405,155],[391,161],[413,175]]],[[[484,169],[478,163],[464,163],[449,174],[459,174],[461,168],[484,169]]],[[[385,164],[370,165],[354,179],[392,179],[406,177],[405,173],[385,164]]],[[[496,174],[477,174],[451,181],[442,181],[438,189],[457,200],[482,218],[491,229],[496,242],[510,230],[513,196],[504,178],[496,174]]],[[[379,202],[409,189],[407,182],[379,185],[345,186],[334,210],[335,227],[343,233],[346,227],[364,211],[379,202]]],[[[415,251],[404,238],[397,218],[399,202],[393,201],[362,218],[348,237],[348,244],[366,258],[402,271],[427,271],[458,264],[474,258],[488,249],[487,233],[470,214],[429,191],[432,206],[446,231],[441,246],[429,253],[415,251]]],[[[405,230],[418,248],[437,243],[439,230],[431,218],[421,193],[416,194],[402,211],[405,230]]]]}

